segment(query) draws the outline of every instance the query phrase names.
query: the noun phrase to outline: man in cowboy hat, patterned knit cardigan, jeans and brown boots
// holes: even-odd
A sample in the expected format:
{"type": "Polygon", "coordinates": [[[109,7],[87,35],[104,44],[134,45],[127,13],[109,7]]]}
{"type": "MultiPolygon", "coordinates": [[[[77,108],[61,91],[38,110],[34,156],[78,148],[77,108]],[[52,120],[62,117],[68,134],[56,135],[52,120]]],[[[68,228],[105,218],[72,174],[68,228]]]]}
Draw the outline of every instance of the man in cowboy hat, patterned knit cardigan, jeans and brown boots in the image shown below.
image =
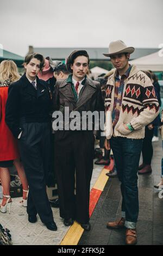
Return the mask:
{"type": "Polygon", "coordinates": [[[139,214],[137,170],[139,167],[145,126],[159,113],[159,103],[151,80],[129,64],[134,47],[123,41],[110,42],[109,53],[115,67],[106,87],[106,140],[111,147],[118,178],[121,181],[122,218],[108,222],[108,228],[126,227],[126,244],[135,245],[136,222],[139,214]]]}

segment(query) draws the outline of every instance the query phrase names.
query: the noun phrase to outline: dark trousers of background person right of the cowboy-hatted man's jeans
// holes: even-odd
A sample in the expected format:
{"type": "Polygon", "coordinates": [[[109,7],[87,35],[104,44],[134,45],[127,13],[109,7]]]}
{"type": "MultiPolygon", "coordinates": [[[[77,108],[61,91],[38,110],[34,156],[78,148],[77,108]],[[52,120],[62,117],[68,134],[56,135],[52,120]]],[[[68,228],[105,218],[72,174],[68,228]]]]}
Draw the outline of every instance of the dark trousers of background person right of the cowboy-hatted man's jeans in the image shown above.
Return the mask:
{"type": "Polygon", "coordinates": [[[143,163],[150,164],[150,165],[151,165],[152,156],[153,156],[153,145],[152,145],[153,133],[154,133],[154,129],[149,130],[148,126],[146,126],[145,138],[143,138],[142,157],[143,157],[143,163]]]}

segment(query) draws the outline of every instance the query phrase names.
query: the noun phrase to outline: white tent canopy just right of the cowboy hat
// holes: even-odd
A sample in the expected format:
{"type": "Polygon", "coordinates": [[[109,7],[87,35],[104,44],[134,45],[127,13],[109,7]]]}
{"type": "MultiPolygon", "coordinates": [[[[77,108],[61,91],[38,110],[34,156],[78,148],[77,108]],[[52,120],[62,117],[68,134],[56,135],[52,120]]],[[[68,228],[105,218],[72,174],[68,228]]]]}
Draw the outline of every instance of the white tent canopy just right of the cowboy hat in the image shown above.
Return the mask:
{"type": "Polygon", "coordinates": [[[154,52],[147,56],[130,61],[140,70],[163,71],[163,57],[159,56],[159,52],[154,52]]]}

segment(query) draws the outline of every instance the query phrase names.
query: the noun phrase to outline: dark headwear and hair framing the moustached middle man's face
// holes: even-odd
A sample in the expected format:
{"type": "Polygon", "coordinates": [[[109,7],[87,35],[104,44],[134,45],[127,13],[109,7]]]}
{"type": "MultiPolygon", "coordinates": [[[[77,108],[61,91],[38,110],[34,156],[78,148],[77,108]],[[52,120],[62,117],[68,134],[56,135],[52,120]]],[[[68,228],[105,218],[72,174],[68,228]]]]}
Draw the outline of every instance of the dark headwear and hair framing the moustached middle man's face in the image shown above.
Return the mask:
{"type": "Polygon", "coordinates": [[[70,56],[68,56],[67,58],[67,63],[66,63],[66,66],[67,66],[67,70],[70,71],[72,73],[72,69],[71,69],[71,65],[73,65],[74,63],[74,60],[79,57],[79,56],[85,56],[88,60],[88,65],[90,63],[90,57],[89,57],[89,54],[87,54],[87,51],[85,50],[76,50],[76,51],[73,51],[70,56]]]}

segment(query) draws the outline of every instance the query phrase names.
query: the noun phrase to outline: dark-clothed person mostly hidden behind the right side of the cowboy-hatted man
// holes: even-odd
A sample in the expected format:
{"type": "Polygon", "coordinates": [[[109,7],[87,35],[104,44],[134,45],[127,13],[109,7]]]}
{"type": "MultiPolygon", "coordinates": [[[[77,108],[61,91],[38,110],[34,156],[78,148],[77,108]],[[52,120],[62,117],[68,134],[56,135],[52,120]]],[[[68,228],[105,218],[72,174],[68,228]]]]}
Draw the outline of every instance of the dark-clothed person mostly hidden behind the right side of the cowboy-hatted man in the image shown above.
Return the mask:
{"type": "MultiPolygon", "coordinates": [[[[145,74],[151,79],[152,81],[152,75],[149,71],[143,71],[145,74]]],[[[154,84],[153,84],[154,85],[154,84]]],[[[155,86],[155,94],[159,101],[159,95],[158,90],[156,90],[155,86]]],[[[154,133],[154,127],[157,127],[160,125],[160,116],[158,115],[151,124],[146,125],[145,127],[145,138],[143,138],[143,145],[142,145],[142,159],[143,162],[140,164],[138,173],[139,174],[147,174],[152,173],[152,157],[153,157],[153,145],[152,145],[152,138],[154,133]],[[147,150],[148,149],[148,150],[147,150]]]]}

